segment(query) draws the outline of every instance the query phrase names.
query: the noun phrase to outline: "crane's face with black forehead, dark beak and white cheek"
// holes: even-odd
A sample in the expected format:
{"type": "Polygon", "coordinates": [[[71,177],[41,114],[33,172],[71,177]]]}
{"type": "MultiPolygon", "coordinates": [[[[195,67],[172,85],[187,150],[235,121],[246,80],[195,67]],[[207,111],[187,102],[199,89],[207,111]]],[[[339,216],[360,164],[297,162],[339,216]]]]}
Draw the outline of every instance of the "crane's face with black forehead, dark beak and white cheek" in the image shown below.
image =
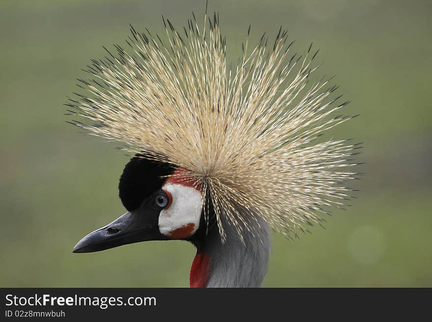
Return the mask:
{"type": "Polygon", "coordinates": [[[191,237],[201,221],[202,194],[199,188],[176,176],[161,178],[161,174],[163,177],[173,171],[133,158],[119,184],[119,195],[128,212],[82,238],[73,251],[92,252],[143,241],[191,237]]]}

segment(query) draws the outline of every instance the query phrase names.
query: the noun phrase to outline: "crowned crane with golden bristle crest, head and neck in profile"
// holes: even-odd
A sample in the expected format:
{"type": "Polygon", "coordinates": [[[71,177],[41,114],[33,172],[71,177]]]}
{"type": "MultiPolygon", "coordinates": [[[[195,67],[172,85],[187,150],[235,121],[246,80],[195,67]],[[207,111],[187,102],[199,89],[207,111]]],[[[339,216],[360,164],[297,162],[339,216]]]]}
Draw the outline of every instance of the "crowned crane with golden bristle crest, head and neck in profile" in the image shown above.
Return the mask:
{"type": "Polygon", "coordinates": [[[232,69],[218,15],[202,29],[195,17],[179,31],[163,23],[165,40],[131,27],[127,48],[92,60],[67,103],[82,121],[71,123],[135,154],[119,183],[127,212],[74,252],[186,240],[191,287],[258,287],[270,227],[297,237],[350,199],[359,146],[318,139],[352,118],[334,114],[347,102],[330,79],[310,79],[316,52],[291,54],[282,29],[252,50],[246,40],[232,69]]]}

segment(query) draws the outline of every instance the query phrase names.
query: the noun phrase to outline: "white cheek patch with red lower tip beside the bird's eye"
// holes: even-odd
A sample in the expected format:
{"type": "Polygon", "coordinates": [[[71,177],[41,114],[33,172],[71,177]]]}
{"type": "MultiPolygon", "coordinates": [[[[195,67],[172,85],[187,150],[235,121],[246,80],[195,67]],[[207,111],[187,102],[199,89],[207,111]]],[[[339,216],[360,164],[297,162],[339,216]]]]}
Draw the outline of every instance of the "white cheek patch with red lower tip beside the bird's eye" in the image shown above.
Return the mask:
{"type": "Polygon", "coordinates": [[[162,189],[171,194],[172,202],[159,215],[159,231],[173,238],[191,236],[199,226],[203,198],[201,193],[181,184],[167,183],[162,189]]]}

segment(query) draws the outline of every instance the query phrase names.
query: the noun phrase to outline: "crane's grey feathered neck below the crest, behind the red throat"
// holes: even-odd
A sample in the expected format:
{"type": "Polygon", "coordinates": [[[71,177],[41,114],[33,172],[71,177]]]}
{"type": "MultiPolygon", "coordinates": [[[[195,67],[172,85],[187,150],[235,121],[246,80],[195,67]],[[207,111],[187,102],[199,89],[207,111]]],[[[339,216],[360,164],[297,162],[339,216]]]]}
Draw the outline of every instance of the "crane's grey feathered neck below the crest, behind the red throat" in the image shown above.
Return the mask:
{"type": "MultiPolygon", "coordinates": [[[[260,287],[267,273],[271,251],[270,228],[260,220],[255,236],[245,232],[244,244],[234,227],[225,225],[227,239],[220,241],[217,233],[207,236],[203,251],[209,257],[206,287],[260,287]]],[[[213,229],[217,231],[217,229],[213,229]]]]}

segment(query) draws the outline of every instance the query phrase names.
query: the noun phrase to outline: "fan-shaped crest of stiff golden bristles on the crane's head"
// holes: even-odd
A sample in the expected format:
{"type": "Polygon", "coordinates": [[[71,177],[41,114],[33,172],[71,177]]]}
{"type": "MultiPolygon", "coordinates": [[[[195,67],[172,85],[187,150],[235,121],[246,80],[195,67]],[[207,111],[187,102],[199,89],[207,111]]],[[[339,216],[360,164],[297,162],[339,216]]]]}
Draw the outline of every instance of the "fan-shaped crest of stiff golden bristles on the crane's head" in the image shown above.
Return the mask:
{"type": "Polygon", "coordinates": [[[294,54],[279,29],[274,41],[263,35],[251,48],[246,40],[230,68],[217,14],[202,28],[194,16],[180,29],[162,19],[166,36],[131,26],[125,48],[92,60],[90,79],[79,79],[83,91],[67,103],[81,116],[72,123],[184,169],[171,175],[210,198],[222,240],[223,223],[242,238],[261,217],[292,236],[343,207],[359,146],[316,140],[352,116],[336,115],[348,102],[334,95],[331,78],[311,80],[312,45],[294,54]]]}

